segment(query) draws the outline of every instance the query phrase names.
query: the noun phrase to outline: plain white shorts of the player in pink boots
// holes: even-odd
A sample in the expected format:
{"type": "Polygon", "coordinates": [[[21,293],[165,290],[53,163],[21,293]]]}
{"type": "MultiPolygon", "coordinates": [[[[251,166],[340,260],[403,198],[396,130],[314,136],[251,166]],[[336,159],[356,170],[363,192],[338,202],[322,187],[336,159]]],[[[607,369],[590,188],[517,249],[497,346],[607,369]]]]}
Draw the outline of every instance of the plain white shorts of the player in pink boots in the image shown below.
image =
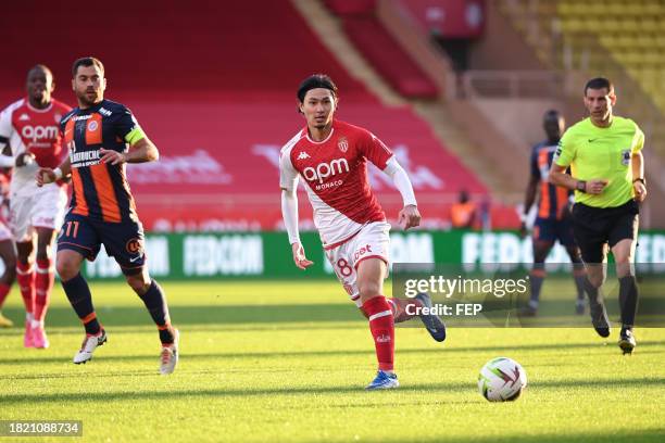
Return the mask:
{"type": "Polygon", "coordinates": [[[64,219],[67,194],[60,186],[45,186],[32,195],[10,200],[10,227],[17,242],[28,241],[34,228],[59,230],[64,219]]]}

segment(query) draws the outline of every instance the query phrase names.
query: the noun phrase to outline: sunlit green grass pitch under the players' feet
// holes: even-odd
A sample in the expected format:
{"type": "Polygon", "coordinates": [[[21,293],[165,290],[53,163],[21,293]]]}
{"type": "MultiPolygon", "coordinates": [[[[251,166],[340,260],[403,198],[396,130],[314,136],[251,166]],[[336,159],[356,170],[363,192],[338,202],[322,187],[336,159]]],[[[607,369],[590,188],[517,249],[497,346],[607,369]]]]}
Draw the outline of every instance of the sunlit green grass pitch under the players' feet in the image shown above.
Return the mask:
{"type": "MultiPolygon", "coordinates": [[[[71,362],[83,330],[59,284],[50,349],[0,330],[0,419],[83,420],[96,442],[665,441],[665,329],[638,329],[622,356],[616,329],[451,328],[440,344],[400,328],[402,387],[365,392],[367,324],[334,281],[165,282],[181,332],[170,377],[140,300],[124,283],[91,287],[109,342],[87,365],[71,362]],[[477,391],[497,356],[527,371],[514,403],[477,391]]],[[[15,289],[3,312],[22,318],[15,289]]]]}

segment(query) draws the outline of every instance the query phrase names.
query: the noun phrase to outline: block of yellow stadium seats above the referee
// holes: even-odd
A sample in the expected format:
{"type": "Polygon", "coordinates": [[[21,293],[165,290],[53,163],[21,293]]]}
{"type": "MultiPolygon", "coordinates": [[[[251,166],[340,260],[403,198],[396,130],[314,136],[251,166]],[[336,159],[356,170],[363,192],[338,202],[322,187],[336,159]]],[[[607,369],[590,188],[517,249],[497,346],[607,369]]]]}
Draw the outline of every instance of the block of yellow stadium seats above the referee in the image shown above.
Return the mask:
{"type": "Polygon", "coordinates": [[[665,3],[660,0],[504,3],[506,10],[522,11],[523,18],[532,16],[535,25],[529,26],[529,20],[516,25],[523,28],[543,62],[568,71],[614,73],[618,68],[643,94],[640,99],[651,100],[657,112],[665,113],[665,3]],[[543,31],[535,31],[538,28],[543,31]]]}

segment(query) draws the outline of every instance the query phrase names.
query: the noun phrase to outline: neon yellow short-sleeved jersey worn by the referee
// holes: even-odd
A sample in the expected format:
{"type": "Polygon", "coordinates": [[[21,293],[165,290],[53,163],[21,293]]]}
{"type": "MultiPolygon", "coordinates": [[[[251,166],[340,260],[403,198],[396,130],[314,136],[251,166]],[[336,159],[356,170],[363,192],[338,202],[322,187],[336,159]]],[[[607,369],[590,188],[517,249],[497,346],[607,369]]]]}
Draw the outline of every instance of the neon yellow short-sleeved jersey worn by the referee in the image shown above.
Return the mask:
{"type": "Polygon", "coordinates": [[[559,142],[554,162],[570,166],[578,180],[607,180],[598,195],[575,191],[575,202],[593,207],[616,207],[632,199],[631,156],[644,147],[644,132],[630,118],[614,116],[600,128],[590,118],[570,126],[559,142]]]}

